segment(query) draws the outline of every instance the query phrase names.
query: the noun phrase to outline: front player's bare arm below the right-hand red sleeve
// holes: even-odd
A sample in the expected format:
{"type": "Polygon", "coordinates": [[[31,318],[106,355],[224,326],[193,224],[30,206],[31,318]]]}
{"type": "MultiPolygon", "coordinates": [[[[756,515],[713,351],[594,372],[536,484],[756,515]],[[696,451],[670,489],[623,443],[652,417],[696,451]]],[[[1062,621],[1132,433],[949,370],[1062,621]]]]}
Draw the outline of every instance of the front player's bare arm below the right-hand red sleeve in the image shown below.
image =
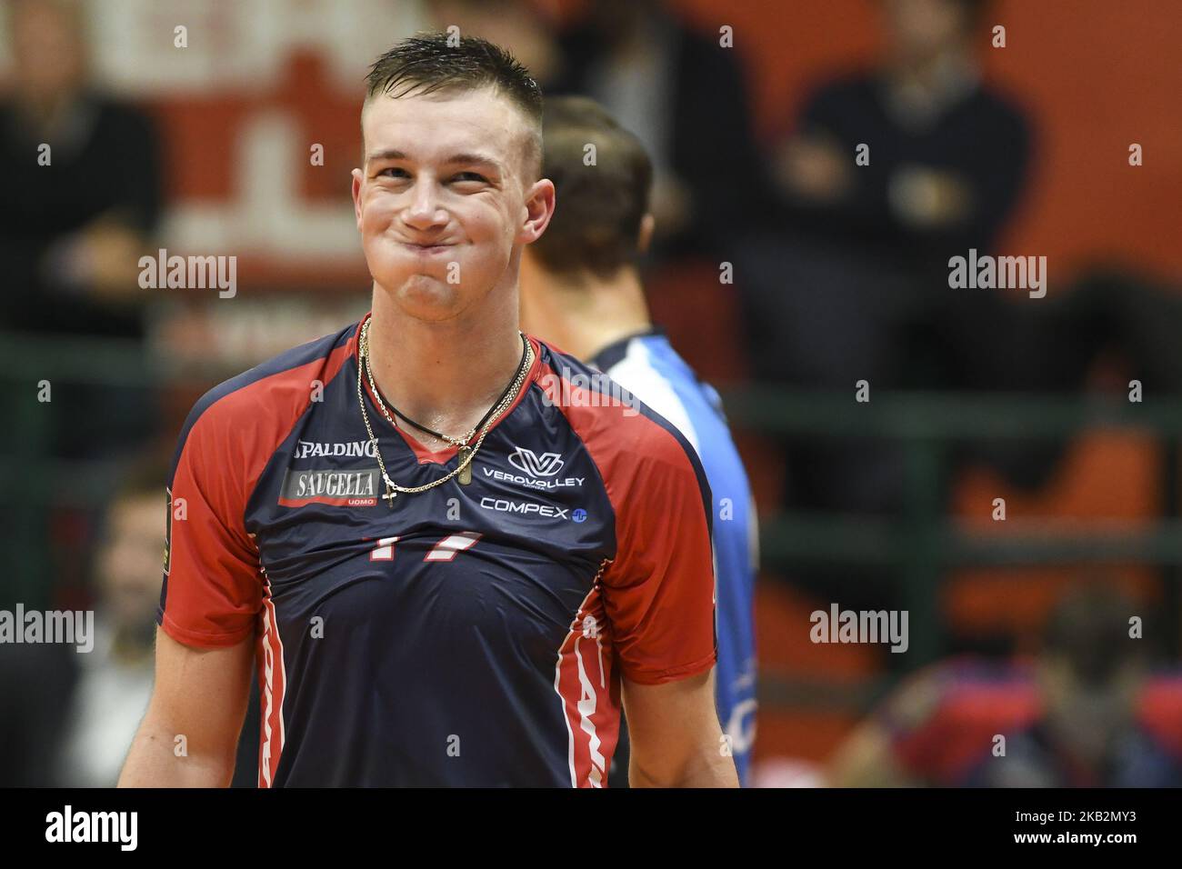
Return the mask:
{"type": "Polygon", "coordinates": [[[714,708],[714,670],[664,685],[623,679],[632,787],[738,787],[714,708]]]}

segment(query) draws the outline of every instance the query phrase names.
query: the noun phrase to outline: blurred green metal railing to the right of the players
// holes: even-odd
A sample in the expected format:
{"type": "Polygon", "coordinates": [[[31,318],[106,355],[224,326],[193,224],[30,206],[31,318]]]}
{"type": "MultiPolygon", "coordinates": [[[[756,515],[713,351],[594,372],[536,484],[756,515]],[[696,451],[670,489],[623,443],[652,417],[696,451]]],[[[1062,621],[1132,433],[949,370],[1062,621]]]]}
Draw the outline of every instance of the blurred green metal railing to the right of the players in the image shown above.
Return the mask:
{"type": "Polygon", "coordinates": [[[869,402],[846,394],[752,384],[722,390],[732,426],[760,435],[868,437],[904,447],[902,515],[768,515],[762,519],[762,566],[791,572],[804,564],[878,565],[902,571],[911,625],[909,663],[942,650],[940,581],[955,566],[1072,564],[1158,565],[1165,579],[1170,648],[1180,647],[1182,523],[1178,453],[1182,400],[1128,402],[1110,396],[1030,394],[878,393],[869,402]],[[1007,520],[1004,533],[974,533],[942,512],[941,487],[955,441],[1067,437],[1085,429],[1132,429],[1162,441],[1165,520],[1138,524],[1007,520]]]}

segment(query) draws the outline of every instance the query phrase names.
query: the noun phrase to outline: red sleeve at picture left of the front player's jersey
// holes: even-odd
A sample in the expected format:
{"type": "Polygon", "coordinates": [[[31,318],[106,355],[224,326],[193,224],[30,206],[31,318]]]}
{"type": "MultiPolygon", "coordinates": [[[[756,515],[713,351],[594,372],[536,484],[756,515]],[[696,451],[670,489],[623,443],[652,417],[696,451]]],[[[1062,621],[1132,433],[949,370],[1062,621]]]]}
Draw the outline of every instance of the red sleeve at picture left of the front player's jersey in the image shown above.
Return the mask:
{"type": "Polygon", "coordinates": [[[262,607],[259,553],[245,527],[247,456],[226,410],[215,403],[182,436],[169,488],[157,621],[174,640],[203,648],[252,635],[262,607]]]}

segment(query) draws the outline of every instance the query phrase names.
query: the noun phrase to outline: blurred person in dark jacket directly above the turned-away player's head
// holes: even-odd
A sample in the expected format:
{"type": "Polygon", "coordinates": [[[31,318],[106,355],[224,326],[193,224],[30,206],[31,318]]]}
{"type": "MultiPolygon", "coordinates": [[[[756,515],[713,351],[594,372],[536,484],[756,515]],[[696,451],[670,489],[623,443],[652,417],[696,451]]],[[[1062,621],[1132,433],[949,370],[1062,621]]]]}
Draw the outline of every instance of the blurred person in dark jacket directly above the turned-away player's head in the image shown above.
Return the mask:
{"type": "Polygon", "coordinates": [[[654,254],[721,255],[771,207],[740,52],[661,0],[599,0],[559,33],[548,95],[603,105],[654,166],[654,254]]]}

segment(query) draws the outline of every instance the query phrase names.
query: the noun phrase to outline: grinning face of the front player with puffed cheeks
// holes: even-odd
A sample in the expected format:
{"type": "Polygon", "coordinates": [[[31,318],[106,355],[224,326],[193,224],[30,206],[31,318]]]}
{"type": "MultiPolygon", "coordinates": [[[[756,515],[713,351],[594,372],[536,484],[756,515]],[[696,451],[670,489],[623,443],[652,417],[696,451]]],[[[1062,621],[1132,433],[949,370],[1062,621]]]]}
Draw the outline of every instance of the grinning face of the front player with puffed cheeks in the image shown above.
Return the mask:
{"type": "Polygon", "coordinates": [[[428,322],[480,311],[517,286],[520,246],[553,213],[532,134],[492,89],[378,95],[362,111],[365,164],[353,206],[377,288],[428,322]],[[527,176],[528,175],[528,176],[527,176]]]}

